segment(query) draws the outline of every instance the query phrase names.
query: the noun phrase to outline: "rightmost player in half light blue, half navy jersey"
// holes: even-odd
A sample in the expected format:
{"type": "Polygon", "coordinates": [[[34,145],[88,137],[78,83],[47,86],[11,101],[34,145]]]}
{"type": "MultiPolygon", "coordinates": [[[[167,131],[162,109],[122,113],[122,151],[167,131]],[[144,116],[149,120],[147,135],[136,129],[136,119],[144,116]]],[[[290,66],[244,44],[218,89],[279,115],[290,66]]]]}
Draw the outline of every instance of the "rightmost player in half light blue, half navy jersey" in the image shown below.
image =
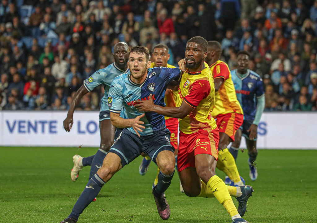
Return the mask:
{"type": "Polygon", "coordinates": [[[231,71],[232,81],[236,89],[237,99],[243,109],[244,120],[242,126],[235,135],[235,141],[232,143],[230,152],[236,159],[240,146],[241,136],[246,140],[249,154],[249,168],[251,180],[256,180],[256,149],[257,127],[265,106],[265,97],[263,82],[260,75],[248,69],[249,54],[246,51],[240,51],[237,54],[238,68],[231,71]]]}

